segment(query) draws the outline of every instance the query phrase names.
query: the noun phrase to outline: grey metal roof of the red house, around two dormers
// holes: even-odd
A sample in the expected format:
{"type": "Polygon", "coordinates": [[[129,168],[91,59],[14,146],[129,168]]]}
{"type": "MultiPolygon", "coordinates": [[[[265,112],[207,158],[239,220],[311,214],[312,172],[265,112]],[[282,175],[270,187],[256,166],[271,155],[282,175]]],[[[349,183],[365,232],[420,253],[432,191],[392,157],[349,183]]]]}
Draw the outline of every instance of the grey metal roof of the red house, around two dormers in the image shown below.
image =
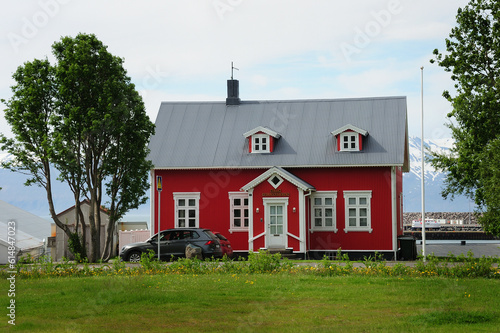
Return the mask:
{"type": "Polygon", "coordinates": [[[406,97],[331,100],[163,102],[149,158],[157,169],[403,166],[409,169],[406,97]],[[362,152],[338,152],[333,131],[368,132],[362,152]],[[248,152],[244,133],[281,135],[270,154],[248,152]]]}

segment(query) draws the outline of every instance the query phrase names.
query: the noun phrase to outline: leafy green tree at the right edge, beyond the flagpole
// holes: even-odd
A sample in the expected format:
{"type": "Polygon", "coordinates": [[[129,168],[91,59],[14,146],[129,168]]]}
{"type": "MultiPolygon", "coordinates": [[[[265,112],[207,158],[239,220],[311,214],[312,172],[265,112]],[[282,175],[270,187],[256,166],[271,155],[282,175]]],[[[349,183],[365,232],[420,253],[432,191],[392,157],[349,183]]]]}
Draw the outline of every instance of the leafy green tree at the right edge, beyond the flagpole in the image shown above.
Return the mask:
{"type": "Polygon", "coordinates": [[[486,232],[500,234],[500,2],[471,0],[458,10],[457,26],[446,39],[446,52],[434,50],[431,63],[451,73],[456,92],[445,91],[451,103],[448,126],[455,139],[449,155],[434,154],[432,164],[447,171],[443,196],[474,198],[486,232]],[[498,165],[498,164],[497,164],[498,165]],[[498,184],[498,183],[497,183],[498,184]]]}

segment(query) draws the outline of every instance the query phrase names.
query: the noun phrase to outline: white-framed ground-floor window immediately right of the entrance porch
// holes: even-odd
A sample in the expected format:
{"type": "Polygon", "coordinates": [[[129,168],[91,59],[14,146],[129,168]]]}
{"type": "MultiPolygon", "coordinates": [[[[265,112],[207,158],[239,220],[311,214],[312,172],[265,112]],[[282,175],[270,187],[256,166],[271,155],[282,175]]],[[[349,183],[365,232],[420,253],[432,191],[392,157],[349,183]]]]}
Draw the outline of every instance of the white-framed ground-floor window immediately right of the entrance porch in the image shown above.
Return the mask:
{"type": "Polygon", "coordinates": [[[311,231],[337,232],[337,191],[318,191],[311,195],[311,231]],[[321,204],[317,205],[315,199],[321,199],[321,204]],[[332,199],[332,205],[327,205],[325,199],[332,199]],[[318,211],[319,216],[318,216],[318,211]],[[332,215],[326,216],[327,209],[332,209],[332,215]],[[332,218],[332,225],[326,225],[326,219],[332,218]],[[321,219],[321,226],[316,225],[316,220],[321,219]]]}

